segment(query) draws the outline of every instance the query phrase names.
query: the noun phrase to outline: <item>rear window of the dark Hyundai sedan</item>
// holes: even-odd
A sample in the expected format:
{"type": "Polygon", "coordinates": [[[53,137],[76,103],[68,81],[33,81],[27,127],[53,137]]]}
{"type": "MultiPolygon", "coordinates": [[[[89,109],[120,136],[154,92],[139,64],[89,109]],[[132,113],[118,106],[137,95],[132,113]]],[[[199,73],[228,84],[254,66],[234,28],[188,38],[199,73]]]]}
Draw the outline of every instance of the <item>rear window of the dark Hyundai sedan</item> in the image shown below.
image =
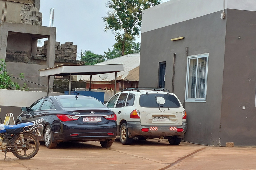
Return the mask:
{"type": "Polygon", "coordinates": [[[59,103],[63,108],[105,108],[106,106],[96,99],[91,98],[68,98],[68,99],[58,99],[59,103]]]}

